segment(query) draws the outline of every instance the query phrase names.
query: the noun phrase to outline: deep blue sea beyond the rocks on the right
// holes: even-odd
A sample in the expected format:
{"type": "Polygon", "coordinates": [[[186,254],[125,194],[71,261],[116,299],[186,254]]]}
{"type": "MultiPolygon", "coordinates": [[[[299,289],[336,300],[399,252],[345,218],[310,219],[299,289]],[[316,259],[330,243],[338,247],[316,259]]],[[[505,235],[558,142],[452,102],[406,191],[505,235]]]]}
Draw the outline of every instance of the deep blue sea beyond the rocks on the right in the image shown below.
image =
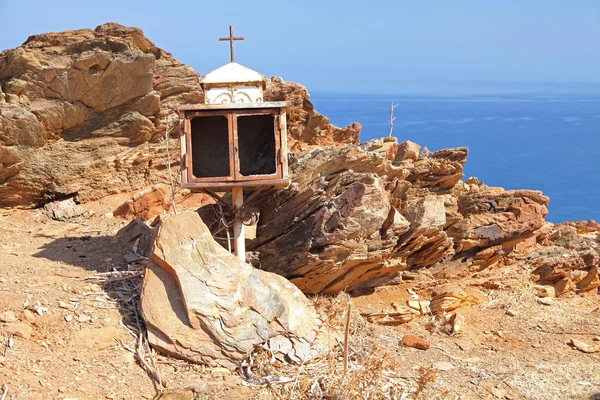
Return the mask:
{"type": "Polygon", "coordinates": [[[600,94],[364,95],[313,93],[337,126],[359,122],[361,141],[389,134],[430,151],[468,147],[465,177],[537,189],[551,222],[600,221],[600,94]]]}

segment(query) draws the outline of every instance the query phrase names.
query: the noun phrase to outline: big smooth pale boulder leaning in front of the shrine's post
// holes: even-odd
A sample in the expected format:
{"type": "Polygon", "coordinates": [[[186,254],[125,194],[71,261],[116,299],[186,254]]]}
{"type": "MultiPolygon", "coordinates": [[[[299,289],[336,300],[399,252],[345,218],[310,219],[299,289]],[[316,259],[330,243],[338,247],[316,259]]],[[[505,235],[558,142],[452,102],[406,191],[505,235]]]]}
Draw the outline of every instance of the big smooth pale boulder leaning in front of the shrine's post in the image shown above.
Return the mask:
{"type": "Polygon", "coordinates": [[[271,341],[273,348],[291,361],[306,361],[314,355],[311,345],[321,324],[298,288],[233,256],[195,212],[161,221],[144,277],[142,311],[155,348],[229,369],[278,336],[285,340],[271,341]]]}

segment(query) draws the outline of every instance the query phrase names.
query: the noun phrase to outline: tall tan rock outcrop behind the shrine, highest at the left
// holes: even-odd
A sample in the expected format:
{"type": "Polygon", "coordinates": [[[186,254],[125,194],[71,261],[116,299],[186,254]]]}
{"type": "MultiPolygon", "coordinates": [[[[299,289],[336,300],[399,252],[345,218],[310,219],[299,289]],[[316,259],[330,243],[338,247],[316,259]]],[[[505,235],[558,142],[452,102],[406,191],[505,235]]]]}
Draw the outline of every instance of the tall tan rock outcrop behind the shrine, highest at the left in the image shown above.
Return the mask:
{"type": "MultiPolygon", "coordinates": [[[[0,54],[0,206],[80,201],[166,182],[168,130],[177,166],[177,115],[203,101],[199,74],[138,28],[115,23],[30,37],[0,54]],[[168,126],[166,126],[167,122],[168,126]]],[[[288,99],[290,145],[357,143],[360,125],[331,126],[306,89],[277,78],[288,99]]]]}

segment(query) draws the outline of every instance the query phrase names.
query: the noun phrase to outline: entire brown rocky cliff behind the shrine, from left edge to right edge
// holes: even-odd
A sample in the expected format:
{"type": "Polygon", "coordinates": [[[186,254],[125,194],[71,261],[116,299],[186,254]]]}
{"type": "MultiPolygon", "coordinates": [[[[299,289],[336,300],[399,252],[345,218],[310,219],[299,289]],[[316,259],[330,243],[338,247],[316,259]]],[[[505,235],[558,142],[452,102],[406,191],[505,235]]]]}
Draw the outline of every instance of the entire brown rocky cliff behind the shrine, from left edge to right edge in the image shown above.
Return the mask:
{"type": "MultiPolygon", "coordinates": [[[[2,52],[0,88],[3,207],[73,195],[85,202],[164,181],[165,131],[179,164],[172,109],[203,97],[197,72],[141,30],[114,23],[32,36],[2,52]]],[[[596,246],[582,236],[589,232],[546,223],[541,192],[463,181],[466,148],[428,153],[393,138],[360,144],[359,124],[332,126],[303,86],[277,77],[265,98],[292,105],[293,184],[253,204],[260,219],[249,250],[260,268],[306,293],[517,261],[535,263],[536,279],[561,292],[598,281],[598,253],[581,245],[596,246]],[[541,246],[548,254],[531,253],[541,246]]]]}

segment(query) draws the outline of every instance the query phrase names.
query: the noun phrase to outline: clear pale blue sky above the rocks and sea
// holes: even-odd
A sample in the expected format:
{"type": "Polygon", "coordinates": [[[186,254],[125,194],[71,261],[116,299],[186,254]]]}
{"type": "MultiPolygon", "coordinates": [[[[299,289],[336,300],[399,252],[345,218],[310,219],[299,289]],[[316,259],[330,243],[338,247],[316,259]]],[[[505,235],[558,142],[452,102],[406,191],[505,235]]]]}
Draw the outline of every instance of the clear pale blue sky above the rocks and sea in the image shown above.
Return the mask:
{"type": "Polygon", "coordinates": [[[108,21],[202,74],[228,61],[232,24],[236,61],[311,91],[600,84],[600,0],[0,0],[0,49],[108,21]]]}

